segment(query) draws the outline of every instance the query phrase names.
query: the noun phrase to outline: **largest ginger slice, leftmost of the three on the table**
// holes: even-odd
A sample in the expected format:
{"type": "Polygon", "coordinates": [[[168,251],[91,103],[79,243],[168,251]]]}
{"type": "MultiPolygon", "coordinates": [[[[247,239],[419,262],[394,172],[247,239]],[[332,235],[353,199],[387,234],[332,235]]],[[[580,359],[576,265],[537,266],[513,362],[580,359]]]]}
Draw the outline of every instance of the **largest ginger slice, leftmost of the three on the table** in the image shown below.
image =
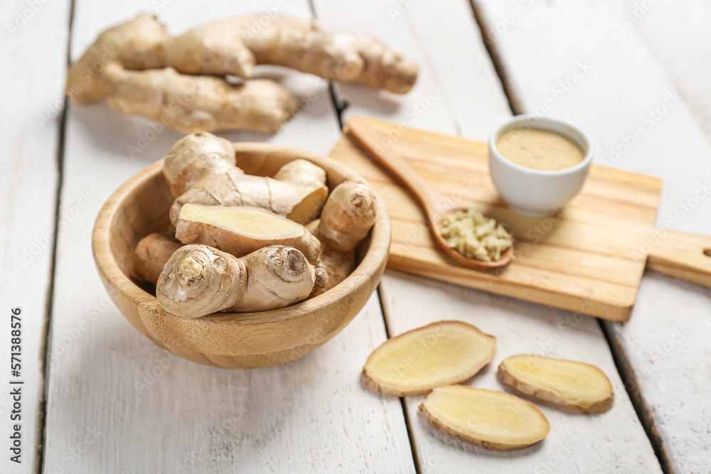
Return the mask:
{"type": "Polygon", "coordinates": [[[496,354],[496,338],[462,321],[439,321],[375,349],[363,367],[365,385],[395,397],[428,394],[465,382],[496,354]]]}

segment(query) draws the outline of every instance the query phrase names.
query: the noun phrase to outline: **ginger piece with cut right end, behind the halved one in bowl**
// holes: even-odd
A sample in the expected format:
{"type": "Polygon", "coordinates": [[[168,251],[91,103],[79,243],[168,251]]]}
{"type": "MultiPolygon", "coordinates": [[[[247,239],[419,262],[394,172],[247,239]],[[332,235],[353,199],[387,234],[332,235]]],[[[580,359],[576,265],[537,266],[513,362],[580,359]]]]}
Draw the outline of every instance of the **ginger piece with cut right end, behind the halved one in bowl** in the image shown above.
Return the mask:
{"type": "Polygon", "coordinates": [[[314,187],[250,176],[239,168],[230,168],[224,173],[205,176],[176,198],[170,218],[173,225],[177,225],[183,205],[196,203],[262,208],[305,224],[319,216],[327,195],[328,188],[324,185],[314,187]]]}

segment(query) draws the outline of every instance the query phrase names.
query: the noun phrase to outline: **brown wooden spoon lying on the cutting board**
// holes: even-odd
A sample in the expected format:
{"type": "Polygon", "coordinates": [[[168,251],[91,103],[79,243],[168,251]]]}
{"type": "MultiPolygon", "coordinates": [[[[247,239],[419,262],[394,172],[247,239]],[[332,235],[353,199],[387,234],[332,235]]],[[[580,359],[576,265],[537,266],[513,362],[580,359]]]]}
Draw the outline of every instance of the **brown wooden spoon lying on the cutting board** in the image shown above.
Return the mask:
{"type": "Polygon", "coordinates": [[[457,207],[442,209],[442,204],[446,203],[449,198],[430,187],[429,183],[424,181],[424,179],[407,164],[405,158],[402,158],[400,153],[394,151],[391,146],[378,146],[378,141],[382,136],[378,135],[373,131],[372,127],[362,120],[349,120],[348,124],[346,124],[346,133],[353,137],[360,146],[368,150],[370,155],[373,156],[378,163],[385,166],[385,168],[397,176],[397,178],[400,178],[400,181],[410,189],[410,192],[415,195],[417,202],[422,210],[424,210],[427,220],[429,220],[429,230],[432,231],[434,241],[437,242],[439,247],[442,247],[442,250],[447,252],[450,257],[464,266],[480,270],[495,269],[511,261],[513,246],[508,247],[498,260],[492,262],[484,262],[483,260],[466,257],[464,254],[449,247],[447,240],[442,237],[440,227],[442,216],[456,212],[457,210],[468,210],[469,208],[457,207]],[[376,146],[378,149],[377,152],[375,151],[376,146]]]}

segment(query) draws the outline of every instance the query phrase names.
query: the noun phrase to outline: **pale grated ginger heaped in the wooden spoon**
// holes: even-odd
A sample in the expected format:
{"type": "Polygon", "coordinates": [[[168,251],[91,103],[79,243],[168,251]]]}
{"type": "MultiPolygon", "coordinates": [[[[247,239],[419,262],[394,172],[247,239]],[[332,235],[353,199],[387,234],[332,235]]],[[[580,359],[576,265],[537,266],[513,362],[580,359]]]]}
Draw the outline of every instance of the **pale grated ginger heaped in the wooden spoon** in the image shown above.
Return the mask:
{"type": "Polygon", "coordinates": [[[449,248],[464,257],[491,262],[511,247],[513,237],[491,217],[478,210],[458,210],[440,220],[440,232],[449,248]]]}

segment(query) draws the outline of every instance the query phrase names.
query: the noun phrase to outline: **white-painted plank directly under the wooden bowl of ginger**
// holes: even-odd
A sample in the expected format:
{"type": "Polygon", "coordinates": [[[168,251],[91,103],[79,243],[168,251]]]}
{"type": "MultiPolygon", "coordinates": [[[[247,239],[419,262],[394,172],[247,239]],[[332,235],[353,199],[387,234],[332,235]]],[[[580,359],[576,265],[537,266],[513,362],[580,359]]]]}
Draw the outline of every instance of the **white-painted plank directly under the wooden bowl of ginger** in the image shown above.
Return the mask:
{"type": "MultiPolygon", "coordinates": [[[[173,32],[275,5],[165,3],[158,13],[173,32]]],[[[155,5],[127,1],[107,9],[77,1],[73,58],[109,24],[155,5]]],[[[292,2],[285,11],[310,15],[306,1],[292,2]]],[[[326,83],[296,72],[278,75],[302,97],[314,94],[309,107],[276,136],[224,136],[326,153],[338,136],[326,83]]],[[[62,199],[70,203],[81,193],[95,199],[59,237],[53,350],[63,347],[68,331],[78,336],[50,370],[45,472],[94,474],[110,466],[121,473],[411,473],[400,402],[372,397],[358,378],[365,358],[385,340],[377,295],[323,348],[287,365],[252,371],[173,357],[118,313],[96,274],[90,233],[109,194],[180,137],[149,131],[150,122],[116,114],[105,104],[70,107],[62,199]],[[129,156],[127,146],[146,136],[154,139],[129,156]]]]}

